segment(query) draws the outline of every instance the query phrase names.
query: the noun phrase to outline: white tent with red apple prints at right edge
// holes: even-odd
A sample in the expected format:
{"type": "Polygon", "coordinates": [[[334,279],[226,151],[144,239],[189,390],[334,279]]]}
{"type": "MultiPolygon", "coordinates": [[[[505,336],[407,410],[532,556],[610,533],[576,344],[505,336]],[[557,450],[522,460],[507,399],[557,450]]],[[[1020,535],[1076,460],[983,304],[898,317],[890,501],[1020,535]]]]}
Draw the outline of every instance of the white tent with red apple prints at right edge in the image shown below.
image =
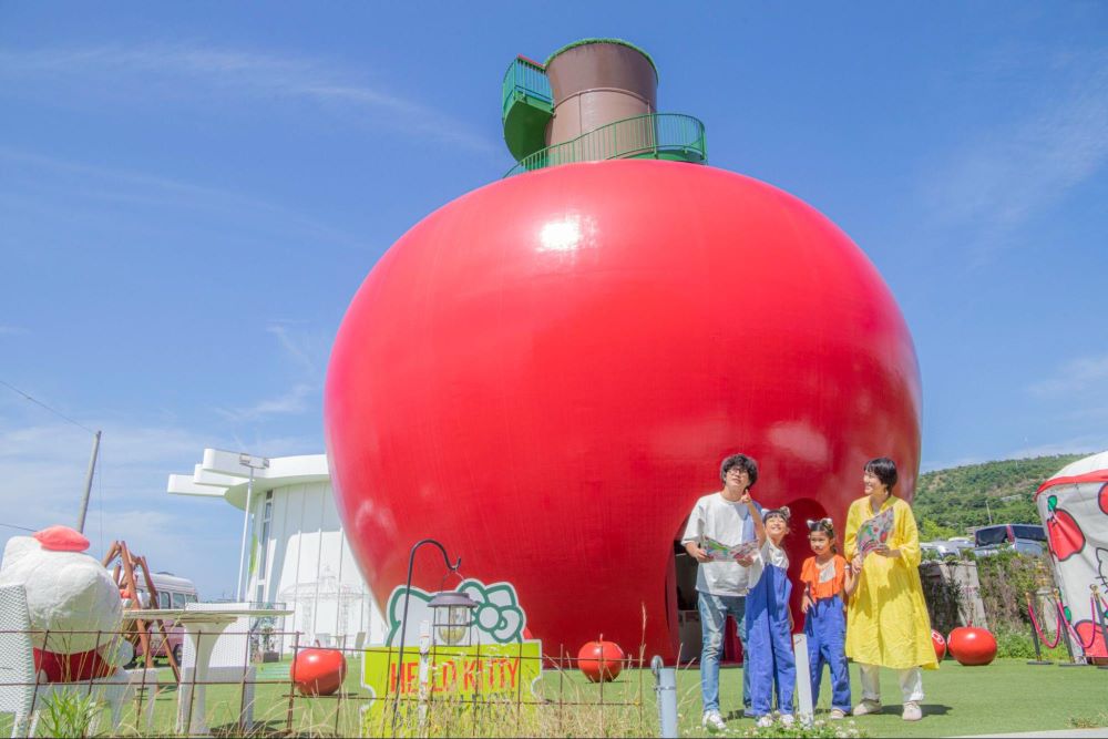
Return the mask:
{"type": "Polygon", "coordinates": [[[1067,464],[1035,495],[1070,626],[1087,658],[1108,658],[1108,452],[1067,464]]]}

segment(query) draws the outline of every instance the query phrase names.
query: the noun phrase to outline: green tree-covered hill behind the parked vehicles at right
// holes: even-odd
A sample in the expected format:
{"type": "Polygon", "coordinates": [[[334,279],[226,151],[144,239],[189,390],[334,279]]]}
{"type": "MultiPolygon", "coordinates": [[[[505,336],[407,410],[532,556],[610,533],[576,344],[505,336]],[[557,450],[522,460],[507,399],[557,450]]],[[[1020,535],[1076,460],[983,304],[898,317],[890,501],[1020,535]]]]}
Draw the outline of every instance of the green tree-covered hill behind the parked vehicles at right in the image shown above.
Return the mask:
{"type": "Polygon", "coordinates": [[[1036,456],[924,473],[912,504],[920,538],[964,536],[971,526],[987,525],[989,512],[993,523],[1039,523],[1035,491],[1044,480],[1084,456],[1036,456]]]}

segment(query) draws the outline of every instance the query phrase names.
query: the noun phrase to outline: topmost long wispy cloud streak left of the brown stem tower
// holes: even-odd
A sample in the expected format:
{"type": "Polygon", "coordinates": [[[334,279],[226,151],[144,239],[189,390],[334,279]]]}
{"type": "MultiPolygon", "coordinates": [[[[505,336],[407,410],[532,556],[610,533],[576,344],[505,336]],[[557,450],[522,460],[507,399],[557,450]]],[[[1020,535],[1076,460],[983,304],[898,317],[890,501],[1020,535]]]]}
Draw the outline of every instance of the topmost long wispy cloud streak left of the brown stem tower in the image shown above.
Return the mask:
{"type": "Polygon", "coordinates": [[[445,111],[392,94],[318,59],[274,57],[186,44],[0,51],[0,76],[75,79],[83,92],[126,94],[131,101],[219,95],[228,102],[299,100],[339,106],[361,123],[431,137],[479,152],[499,146],[451,120],[445,111]],[[137,91],[133,86],[136,85],[137,91]],[[247,100],[248,99],[248,100],[247,100]]]}

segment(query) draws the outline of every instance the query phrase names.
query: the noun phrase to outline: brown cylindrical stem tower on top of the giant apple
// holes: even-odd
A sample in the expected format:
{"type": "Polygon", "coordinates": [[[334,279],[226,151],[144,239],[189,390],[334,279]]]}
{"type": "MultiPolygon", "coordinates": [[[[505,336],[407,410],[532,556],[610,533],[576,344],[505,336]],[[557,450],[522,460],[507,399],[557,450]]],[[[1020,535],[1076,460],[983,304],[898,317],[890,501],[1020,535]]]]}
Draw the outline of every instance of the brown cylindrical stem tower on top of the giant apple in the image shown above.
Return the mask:
{"type": "MultiPolygon", "coordinates": [[[[626,42],[586,40],[572,44],[547,60],[546,75],[554,97],[547,146],[573,141],[608,123],[657,112],[658,72],[644,51],[626,42]]],[[[652,131],[652,126],[643,129],[645,145],[653,140],[652,131]]],[[[608,155],[597,151],[586,158],[608,155]]]]}

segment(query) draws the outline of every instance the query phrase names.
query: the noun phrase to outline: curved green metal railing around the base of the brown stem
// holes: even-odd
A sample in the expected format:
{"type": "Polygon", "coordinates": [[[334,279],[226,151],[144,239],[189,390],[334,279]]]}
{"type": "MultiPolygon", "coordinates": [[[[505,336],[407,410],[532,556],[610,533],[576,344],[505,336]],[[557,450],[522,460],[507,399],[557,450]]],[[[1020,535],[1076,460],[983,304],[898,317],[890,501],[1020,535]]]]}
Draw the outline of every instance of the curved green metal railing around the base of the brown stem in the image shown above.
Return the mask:
{"type": "Polygon", "coordinates": [[[708,160],[704,123],[683,113],[649,113],[608,123],[572,141],[548,146],[520,161],[505,177],[574,162],[616,158],[708,160]]]}

